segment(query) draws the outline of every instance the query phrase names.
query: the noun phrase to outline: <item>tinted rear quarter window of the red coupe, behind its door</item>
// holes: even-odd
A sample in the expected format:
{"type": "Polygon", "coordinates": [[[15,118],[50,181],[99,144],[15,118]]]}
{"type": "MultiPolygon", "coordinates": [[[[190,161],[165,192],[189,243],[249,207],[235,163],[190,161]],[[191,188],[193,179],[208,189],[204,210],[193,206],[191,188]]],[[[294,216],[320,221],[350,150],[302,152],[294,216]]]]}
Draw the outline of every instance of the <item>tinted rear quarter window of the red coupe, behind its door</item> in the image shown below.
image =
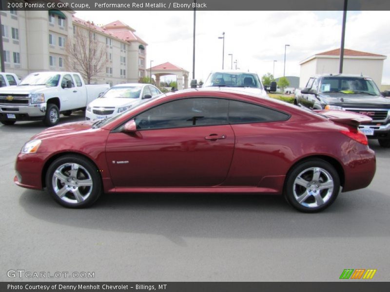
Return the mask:
{"type": "Polygon", "coordinates": [[[246,124],[259,122],[285,121],[289,115],[262,106],[231,100],[229,104],[229,122],[231,124],[246,124]]]}

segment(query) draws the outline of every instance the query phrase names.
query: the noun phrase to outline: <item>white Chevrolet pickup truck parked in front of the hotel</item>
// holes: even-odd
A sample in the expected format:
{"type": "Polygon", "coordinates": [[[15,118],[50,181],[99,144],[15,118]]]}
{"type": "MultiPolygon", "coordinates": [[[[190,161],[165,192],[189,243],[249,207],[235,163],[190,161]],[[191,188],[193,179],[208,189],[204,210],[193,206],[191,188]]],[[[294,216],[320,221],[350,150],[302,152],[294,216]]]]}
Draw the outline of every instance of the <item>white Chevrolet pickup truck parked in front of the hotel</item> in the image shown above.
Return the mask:
{"type": "Polygon", "coordinates": [[[17,86],[0,88],[0,122],[42,120],[51,127],[59,122],[60,113],[85,110],[109,88],[108,84],[85,85],[75,72],[31,73],[17,86]]]}

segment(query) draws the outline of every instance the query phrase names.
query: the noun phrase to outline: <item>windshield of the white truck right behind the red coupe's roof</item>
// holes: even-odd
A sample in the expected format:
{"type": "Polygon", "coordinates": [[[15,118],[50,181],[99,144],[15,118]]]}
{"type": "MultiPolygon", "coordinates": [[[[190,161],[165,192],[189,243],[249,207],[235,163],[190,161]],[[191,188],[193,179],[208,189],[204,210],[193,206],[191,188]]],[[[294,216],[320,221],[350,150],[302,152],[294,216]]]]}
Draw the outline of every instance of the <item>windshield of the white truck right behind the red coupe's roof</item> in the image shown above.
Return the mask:
{"type": "Polygon", "coordinates": [[[204,84],[207,86],[261,88],[258,76],[252,73],[211,73],[204,84]]]}

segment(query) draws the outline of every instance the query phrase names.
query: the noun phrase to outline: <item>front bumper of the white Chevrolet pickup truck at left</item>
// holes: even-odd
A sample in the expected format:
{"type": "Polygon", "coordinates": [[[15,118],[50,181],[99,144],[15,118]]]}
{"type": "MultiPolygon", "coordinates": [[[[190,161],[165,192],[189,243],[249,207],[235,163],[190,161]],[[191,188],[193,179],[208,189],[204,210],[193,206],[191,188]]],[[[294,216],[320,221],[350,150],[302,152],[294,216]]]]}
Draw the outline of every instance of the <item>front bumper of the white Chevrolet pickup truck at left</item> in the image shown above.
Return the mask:
{"type": "Polygon", "coordinates": [[[0,105],[1,121],[31,121],[45,116],[46,103],[31,104],[28,106],[0,105]]]}

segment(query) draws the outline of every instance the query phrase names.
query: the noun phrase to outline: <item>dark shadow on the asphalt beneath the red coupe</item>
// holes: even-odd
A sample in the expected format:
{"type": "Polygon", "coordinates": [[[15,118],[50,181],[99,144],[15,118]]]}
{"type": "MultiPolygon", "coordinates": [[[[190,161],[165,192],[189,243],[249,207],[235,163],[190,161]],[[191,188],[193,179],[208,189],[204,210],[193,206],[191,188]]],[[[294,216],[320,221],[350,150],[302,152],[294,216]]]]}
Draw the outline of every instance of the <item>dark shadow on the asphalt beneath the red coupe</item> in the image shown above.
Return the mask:
{"type": "Polygon", "coordinates": [[[295,211],[279,196],[231,194],[106,194],[90,208],[67,209],[46,192],[26,190],[20,205],[55,224],[161,235],[179,246],[186,237],[390,236],[390,197],[370,189],[341,194],[316,214],[295,211]]]}

